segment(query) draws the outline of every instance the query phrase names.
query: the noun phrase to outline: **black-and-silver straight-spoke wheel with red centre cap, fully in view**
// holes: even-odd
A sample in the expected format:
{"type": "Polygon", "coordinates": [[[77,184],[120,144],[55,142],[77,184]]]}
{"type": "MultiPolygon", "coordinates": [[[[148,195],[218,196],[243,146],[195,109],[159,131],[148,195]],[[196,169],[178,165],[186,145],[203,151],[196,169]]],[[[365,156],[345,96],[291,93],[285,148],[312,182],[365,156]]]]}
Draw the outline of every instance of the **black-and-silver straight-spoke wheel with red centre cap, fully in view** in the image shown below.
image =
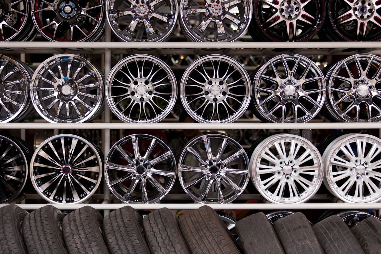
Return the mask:
{"type": "Polygon", "coordinates": [[[102,153],[91,141],[71,134],[46,139],[30,161],[34,189],[56,204],[81,203],[102,179],[102,153]]]}

